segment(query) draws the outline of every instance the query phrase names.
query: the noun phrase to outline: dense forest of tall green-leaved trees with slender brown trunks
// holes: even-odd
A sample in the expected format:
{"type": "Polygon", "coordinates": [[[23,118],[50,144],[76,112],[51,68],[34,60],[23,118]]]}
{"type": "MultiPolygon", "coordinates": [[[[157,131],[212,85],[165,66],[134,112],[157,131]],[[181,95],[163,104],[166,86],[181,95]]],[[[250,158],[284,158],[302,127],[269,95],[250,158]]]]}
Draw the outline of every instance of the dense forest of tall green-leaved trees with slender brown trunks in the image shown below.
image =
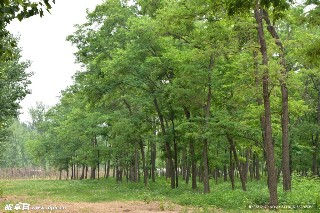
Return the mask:
{"type": "MultiPolygon", "coordinates": [[[[1,17],[10,2],[0,1],[1,17]]],[[[66,37],[83,67],[74,84],[21,123],[31,63],[19,61],[3,23],[0,167],[144,187],[144,201],[163,194],[187,206],[319,212],[319,3],[104,0],[66,37]]],[[[51,9],[23,6],[32,9],[18,19],[51,9]]]]}

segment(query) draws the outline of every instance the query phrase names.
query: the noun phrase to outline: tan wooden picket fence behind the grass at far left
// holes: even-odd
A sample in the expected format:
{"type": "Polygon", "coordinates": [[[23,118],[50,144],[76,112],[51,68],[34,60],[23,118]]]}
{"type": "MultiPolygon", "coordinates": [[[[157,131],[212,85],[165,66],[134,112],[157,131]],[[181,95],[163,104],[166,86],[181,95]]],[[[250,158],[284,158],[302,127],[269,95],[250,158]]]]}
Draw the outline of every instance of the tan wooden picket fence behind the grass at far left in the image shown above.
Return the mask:
{"type": "MultiPolygon", "coordinates": [[[[71,178],[71,168],[68,172],[68,179],[71,178]]],[[[104,177],[105,169],[100,168],[100,177],[104,177]]],[[[76,177],[80,178],[82,167],[76,168],[76,177]]],[[[90,178],[91,168],[88,168],[88,177],[90,178]]],[[[113,171],[110,169],[110,176],[113,171]]],[[[98,178],[98,170],[96,169],[96,178],[98,178]]],[[[54,180],[59,179],[60,171],[51,167],[17,167],[17,168],[0,168],[0,180],[54,180]]],[[[67,171],[61,172],[61,179],[67,178],[67,171]]]]}

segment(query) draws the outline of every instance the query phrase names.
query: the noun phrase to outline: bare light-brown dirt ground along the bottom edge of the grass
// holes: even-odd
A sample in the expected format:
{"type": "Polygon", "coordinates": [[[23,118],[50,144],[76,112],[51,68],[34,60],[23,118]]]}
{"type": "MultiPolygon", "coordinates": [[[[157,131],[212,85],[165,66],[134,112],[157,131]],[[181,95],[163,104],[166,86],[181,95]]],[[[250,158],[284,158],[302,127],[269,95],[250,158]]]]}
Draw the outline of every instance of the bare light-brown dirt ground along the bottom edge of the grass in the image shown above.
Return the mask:
{"type": "MultiPolygon", "coordinates": [[[[2,202],[14,202],[12,204],[18,204],[19,200],[15,197],[5,197],[0,198],[0,203],[2,202]]],[[[0,212],[7,212],[0,209],[0,212]]],[[[52,202],[52,201],[39,201],[37,204],[30,205],[29,211],[27,210],[12,210],[10,212],[32,212],[32,213],[120,213],[120,212],[134,212],[134,213],[153,213],[153,212],[172,212],[172,213],[187,213],[192,212],[192,208],[179,206],[177,204],[169,202],[158,202],[152,201],[149,203],[141,201],[125,201],[125,202],[105,202],[105,203],[88,203],[88,202],[52,202]],[[65,210],[36,210],[31,209],[32,206],[65,206],[65,210]]]]}

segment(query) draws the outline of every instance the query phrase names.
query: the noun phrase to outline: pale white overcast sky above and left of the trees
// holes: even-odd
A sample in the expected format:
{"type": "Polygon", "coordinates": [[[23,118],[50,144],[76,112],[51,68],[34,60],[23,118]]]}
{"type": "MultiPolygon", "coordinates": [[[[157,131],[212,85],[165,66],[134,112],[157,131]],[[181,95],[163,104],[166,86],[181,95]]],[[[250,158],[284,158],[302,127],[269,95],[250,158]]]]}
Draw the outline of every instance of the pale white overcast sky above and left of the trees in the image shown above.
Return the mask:
{"type": "MultiPolygon", "coordinates": [[[[49,1],[51,2],[51,1],[49,1]]],[[[80,70],[75,64],[73,53],[77,51],[66,36],[76,31],[74,24],[86,22],[85,9],[93,10],[101,0],[56,0],[50,10],[45,11],[44,17],[34,16],[19,22],[13,20],[7,29],[21,34],[19,47],[22,47],[20,60],[31,60],[28,72],[35,74],[30,78],[32,94],[27,95],[21,102],[20,121],[28,120],[28,107],[36,106],[36,101],[43,101],[46,105],[58,103],[60,91],[72,85],[71,76],[80,70]]]]}

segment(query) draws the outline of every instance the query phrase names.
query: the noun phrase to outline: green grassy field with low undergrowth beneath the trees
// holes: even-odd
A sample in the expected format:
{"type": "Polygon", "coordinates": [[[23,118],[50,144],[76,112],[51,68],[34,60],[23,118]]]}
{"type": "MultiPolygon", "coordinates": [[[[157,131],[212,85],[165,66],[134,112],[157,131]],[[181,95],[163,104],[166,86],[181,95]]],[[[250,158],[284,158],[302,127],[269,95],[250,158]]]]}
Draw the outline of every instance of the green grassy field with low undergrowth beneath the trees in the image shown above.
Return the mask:
{"type": "MultiPolygon", "coordinates": [[[[250,210],[248,205],[268,204],[266,179],[247,183],[247,192],[241,189],[241,182],[236,179],[236,189],[231,190],[230,182],[219,179],[218,185],[210,182],[210,194],[202,194],[203,184],[198,183],[198,191],[180,181],[179,187],[170,188],[170,181],[163,177],[156,178],[156,183],[149,182],[148,187],[137,183],[116,183],[115,179],[98,180],[12,180],[5,182],[4,194],[20,199],[20,202],[36,203],[39,200],[53,202],[111,202],[111,201],[170,201],[182,206],[193,206],[198,212],[205,209],[223,209],[225,212],[262,212],[250,210]]],[[[278,184],[279,205],[313,205],[312,210],[294,212],[320,212],[320,182],[311,178],[293,177],[292,191],[283,192],[278,184]]],[[[4,209],[6,202],[0,204],[4,209]]],[[[221,211],[221,210],[220,210],[221,211]]],[[[197,212],[197,211],[195,211],[197,212]]],[[[271,212],[271,211],[268,211],[271,212]]],[[[288,210],[278,210],[288,212],[288,210]]]]}

